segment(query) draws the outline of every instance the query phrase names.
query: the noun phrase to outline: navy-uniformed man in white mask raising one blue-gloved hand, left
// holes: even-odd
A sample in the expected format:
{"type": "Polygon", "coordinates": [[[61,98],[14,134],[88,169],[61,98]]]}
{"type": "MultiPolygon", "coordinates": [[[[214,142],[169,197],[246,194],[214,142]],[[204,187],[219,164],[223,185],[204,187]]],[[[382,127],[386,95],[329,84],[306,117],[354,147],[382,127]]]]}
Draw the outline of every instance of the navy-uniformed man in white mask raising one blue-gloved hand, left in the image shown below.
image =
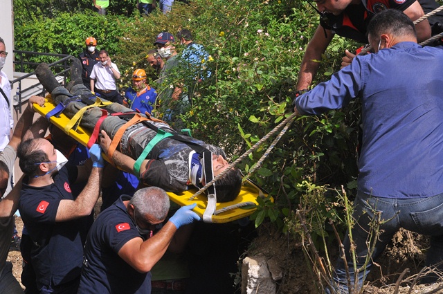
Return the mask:
{"type": "Polygon", "coordinates": [[[93,145],[92,160],[83,166],[65,165],[66,157],[45,139],[26,140],[17,150],[26,177],[19,211],[33,241],[30,259],[40,293],[77,293],[83,259],[84,218],[100,194],[104,160],[93,145]],[[71,183],[87,185],[74,198],[71,183]]]}

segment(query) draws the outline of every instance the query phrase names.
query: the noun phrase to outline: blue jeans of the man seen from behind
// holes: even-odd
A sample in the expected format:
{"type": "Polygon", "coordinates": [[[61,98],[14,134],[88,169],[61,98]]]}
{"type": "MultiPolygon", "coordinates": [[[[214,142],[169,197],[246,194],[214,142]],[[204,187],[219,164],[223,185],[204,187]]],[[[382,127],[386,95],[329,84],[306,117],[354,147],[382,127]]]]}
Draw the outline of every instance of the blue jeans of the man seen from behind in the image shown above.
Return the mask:
{"type": "MultiPolygon", "coordinates": [[[[367,242],[372,244],[374,238],[377,238],[370,237],[370,232],[373,232],[370,223],[373,219],[380,220],[379,231],[381,232],[376,244],[369,246],[373,250],[372,255],[365,268],[362,268],[358,274],[355,273],[356,269],[352,263],[350,238],[346,232],[343,246],[345,246],[352,288],[356,286],[359,289],[363,286],[363,281],[372,267],[372,261],[381,255],[399,228],[431,236],[431,248],[426,257],[426,266],[443,261],[443,194],[422,199],[389,199],[358,192],[352,217],[355,220],[352,238],[357,268],[365,266],[368,256],[367,242]]],[[[443,266],[439,269],[443,270],[443,266]]],[[[342,258],[338,259],[332,284],[338,293],[348,293],[345,264],[342,258]]],[[[326,293],[329,293],[329,289],[326,289],[326,293]]]]}

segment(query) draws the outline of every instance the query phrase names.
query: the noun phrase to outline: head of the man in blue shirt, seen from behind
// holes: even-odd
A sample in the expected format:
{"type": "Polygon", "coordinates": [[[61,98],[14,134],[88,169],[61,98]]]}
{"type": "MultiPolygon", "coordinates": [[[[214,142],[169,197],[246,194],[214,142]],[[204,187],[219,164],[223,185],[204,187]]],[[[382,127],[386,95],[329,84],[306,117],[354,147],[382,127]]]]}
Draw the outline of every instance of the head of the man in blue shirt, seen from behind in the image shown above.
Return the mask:
{"type": "Polygon", "coordinates": [[[417,42],[413,21],[404,12],[383,10],[368,24],[368,40],[374,52],[390,48],[399,42],[417,42]]]}

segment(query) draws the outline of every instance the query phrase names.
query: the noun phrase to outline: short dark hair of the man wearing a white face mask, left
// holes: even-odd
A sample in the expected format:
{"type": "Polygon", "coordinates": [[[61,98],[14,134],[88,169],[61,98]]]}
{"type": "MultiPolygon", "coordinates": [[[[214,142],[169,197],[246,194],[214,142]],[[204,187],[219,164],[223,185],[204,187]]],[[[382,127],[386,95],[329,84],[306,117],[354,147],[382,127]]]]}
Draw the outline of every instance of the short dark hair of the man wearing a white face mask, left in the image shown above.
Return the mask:
{"type": "MultiPolygon", "coordinates": [[[[17,157],[21,171],[27,176],[36,176],[39,172],[39,165],[49,161],[48,155],[38,148],[39,139],[29,139],[19,144],[17,147],[17,157]]],[[[41,139],[44,140],[44,139],[41,139]]]]}

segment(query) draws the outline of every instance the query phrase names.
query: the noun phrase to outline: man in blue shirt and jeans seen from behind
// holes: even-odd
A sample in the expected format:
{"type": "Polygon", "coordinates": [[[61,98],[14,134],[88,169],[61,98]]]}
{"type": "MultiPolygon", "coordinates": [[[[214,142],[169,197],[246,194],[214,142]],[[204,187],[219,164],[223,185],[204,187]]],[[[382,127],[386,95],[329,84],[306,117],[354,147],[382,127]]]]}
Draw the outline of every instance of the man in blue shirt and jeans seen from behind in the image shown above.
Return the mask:
{"type": "Polygon", "coordinates": [[[294,111],[307,115],[339,109],[356,97],[362,102],[352,241],[356,267],[363,270],[354,281],[356,268],[346,235],[351,283],[347,284],[345,261],[339,259],[334,273],[338,293],[348,293],[348,286],[361,287],[373,260],[399,228],[431,235],[426,265],[443,260],[438,250],[443,246],[443,50],[417,45],[413,22],[399,10],[375,15],[368,39],[374,54],[357,56],[331,80],[294,101],[294,111]],[[368,257],[366,242],[374,218],[381,220],[380,235],[374,237],[377,243],[368,257]]]}

